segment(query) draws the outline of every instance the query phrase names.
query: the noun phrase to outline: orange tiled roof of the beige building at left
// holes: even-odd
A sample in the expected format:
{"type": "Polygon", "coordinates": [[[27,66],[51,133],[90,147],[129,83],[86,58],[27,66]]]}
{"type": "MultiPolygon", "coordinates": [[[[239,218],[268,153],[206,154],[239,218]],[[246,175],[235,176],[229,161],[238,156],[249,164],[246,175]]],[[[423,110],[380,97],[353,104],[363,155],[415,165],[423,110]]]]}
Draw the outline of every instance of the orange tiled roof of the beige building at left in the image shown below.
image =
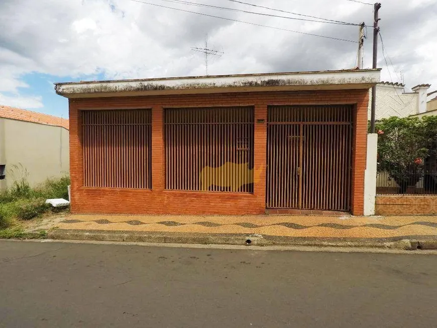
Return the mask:
{"type": "Polygon", "coordinates": [[[20,108],[10,106],[0,105],[0,118],[54,125],[70,130],[69,121],[66,119],[61,119],[47,114],[21,110],[20,108]]]}

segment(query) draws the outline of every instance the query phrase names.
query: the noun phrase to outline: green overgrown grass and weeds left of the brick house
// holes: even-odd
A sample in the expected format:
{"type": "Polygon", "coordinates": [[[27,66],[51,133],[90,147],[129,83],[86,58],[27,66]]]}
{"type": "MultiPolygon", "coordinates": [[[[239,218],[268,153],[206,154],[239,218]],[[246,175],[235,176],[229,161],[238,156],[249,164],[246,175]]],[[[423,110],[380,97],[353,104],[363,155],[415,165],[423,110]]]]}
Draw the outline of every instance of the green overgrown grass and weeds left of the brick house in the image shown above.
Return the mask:
{"type": "Polygon", "coordinates": [[[56,208],[45,203],[48,198],[68,199],[68,176],[48,179],[36,187],[31,187],[27,171],[18,166],[14,169],[20,172],[19,176],[9,189],[0,193],[0,238],[23,238],[24,231],[19,225],[21,220],[31,220],[45,213],[69,209],[56,208]]]}

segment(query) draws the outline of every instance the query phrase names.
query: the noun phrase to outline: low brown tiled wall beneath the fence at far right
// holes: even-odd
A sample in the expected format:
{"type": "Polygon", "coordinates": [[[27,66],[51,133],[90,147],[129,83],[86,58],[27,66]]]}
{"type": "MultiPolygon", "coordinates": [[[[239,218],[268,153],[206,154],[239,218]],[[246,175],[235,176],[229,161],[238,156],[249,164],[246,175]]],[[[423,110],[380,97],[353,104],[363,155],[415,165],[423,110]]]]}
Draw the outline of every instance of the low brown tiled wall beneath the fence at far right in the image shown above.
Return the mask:
{"type": "Polygon", "coordinates": [[[376,196],[377,215],[435,215],[437,196],[376,196]]]}

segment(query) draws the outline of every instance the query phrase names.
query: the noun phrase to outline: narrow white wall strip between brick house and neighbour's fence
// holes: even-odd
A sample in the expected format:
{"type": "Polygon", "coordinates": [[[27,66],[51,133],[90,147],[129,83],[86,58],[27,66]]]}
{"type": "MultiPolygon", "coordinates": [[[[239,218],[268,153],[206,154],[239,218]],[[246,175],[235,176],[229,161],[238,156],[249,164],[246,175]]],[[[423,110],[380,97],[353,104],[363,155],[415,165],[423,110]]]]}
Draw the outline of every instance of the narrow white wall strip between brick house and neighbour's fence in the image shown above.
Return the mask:
{"type": "Polygon", "coordinates": [[[364,215],[375,214],[376,198],[376,157],[378,152],[378,135],[367,135],[367,158],[364,172],[364,215]]]}

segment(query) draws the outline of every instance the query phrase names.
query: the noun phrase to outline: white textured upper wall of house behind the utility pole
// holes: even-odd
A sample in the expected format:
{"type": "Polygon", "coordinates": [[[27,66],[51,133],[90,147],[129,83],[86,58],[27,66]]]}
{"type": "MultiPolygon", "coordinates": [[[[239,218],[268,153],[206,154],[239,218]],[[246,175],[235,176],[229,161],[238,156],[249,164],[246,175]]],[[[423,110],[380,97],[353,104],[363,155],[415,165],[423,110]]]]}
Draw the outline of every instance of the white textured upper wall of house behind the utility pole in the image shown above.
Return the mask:
{"type": "MultiPolygon", "coordinates": [[[[372,89],[370,90],[370,96],[372,89]]],[[[369,101],[368,117],[370,119],[369,101]]],[[[403,93],[403,88],[394,85],[376,85],[376,120],[391,116],[408,117],[418,113],[417,93],[403,93]]]]}

